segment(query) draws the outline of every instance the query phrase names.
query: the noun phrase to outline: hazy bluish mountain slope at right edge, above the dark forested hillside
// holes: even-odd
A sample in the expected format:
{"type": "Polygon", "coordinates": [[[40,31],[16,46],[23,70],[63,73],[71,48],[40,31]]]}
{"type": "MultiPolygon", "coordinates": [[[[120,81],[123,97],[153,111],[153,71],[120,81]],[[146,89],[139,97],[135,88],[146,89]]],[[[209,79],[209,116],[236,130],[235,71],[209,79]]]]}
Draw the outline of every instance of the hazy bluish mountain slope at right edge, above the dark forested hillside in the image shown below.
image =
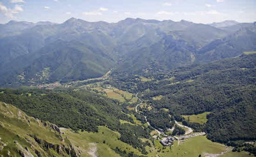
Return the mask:
{"type": "Polygon", "coordinates": [[[242,27],[235,33],[217,39],[204,46],[197,53],[199,62],[236,57],[244,51],[256,50],[256,26],[242,27]]]}

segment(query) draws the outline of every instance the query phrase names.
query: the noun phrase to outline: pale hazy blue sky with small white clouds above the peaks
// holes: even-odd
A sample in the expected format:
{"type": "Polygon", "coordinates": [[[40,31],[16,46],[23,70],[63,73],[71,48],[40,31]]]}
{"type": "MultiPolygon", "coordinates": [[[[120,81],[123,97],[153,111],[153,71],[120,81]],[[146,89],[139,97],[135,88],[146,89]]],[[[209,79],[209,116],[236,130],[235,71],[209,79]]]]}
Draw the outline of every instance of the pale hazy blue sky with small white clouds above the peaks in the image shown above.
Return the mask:
{"type": "Polygon", "coordinates": [[[256,21],[256,0],[0,0],[0,23],[62,23],[69,18],[117,22],[125,18],[197,23],[256,21]]]}

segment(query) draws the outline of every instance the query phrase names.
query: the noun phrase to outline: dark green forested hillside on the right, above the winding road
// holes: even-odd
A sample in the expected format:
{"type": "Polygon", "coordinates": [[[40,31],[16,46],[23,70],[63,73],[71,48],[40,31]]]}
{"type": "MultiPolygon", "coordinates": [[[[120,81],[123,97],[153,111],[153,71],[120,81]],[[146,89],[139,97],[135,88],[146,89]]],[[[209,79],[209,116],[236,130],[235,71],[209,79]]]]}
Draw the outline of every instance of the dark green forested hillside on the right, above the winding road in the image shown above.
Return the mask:
{"type": "Polygon", "coordinates": [[[212,141],[233,146],[238,140],[256,139],[255,54],[144,75],[149,78],[147,82],[141,82],[133,74],[112,77],[110,83],[117,88],[142,92],[142,98],[155,108],[144,111],[151,117],[154,117],[152,114],[158,115],[155,120],[159,117],[162,122],[169,119],[164,116],[166,112],[162,112],[162,108],[167,108],[178,121],[183,120],[181,115],[211,112],[206,124],[186,124],[206,131],[212,141]],[[154,98],[157,96],[160,99],[154,98]]]}

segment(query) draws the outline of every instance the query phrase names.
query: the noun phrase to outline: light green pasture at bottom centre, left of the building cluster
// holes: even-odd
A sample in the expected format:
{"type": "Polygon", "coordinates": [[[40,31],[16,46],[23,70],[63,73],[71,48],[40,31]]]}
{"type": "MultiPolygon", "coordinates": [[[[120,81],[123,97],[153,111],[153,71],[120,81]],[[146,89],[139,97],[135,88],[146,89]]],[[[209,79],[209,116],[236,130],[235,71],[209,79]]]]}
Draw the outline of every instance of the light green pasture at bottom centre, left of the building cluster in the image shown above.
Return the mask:
{"type": "MultiPolygon", "coordinates": [[[[89,133],[87,131],[78,131],[78,133],[74,133],[66,128],[62,128],[62,131],[65,132],[65,136],[69,137],[72,144],[79,146],[82,150],[82,157],[91,157],[88,152],[91,150],[92,144],[96,147],[98,157],[120,157],[113,150],[117,147],[121,150],[126,150],[126,152],[142,155],[139,150],[133,148],[129,144],[121,142],[118,139],[120,137],[118,132],[114,132],[105,126],[99,126],[98,133],[89,133]]],[[[156,152],[153,148],[147,147],[146,150],[151,150],[151,153],[149,152],[146,156],[155,157],[156,152]]]]}

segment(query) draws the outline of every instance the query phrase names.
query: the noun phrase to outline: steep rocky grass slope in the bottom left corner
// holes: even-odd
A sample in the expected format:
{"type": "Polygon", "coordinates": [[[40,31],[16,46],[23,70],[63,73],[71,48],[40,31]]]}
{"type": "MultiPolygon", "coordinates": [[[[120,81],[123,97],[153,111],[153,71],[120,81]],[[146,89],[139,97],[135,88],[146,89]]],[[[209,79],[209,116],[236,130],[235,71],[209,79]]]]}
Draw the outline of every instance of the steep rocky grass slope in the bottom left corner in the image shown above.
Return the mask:
{"type": "Polygon", "coordinates": [[[24,148],[27,147],[29,152],[35,157],[37,155],[34,150],[38,150],[43,157],[51,157],[53,155],[55,157],[69,157],[64,151],[61,151],[63,155],[58,154],[53,149],[46,151],[46,148],[39,145],[29,135],[34,135],[55,146],[65,145],[68,147],[69,144],[69,140],[66,139],[63,142],[59,133],[48,125],[44,126],[43,122],[33,117],[28,117],[18,108],[0,102],[0,147],[3,146],[0,155],[7,157],[9,151],[13,157],[19,157],[18,150],[26,152],[24,148]]]}

